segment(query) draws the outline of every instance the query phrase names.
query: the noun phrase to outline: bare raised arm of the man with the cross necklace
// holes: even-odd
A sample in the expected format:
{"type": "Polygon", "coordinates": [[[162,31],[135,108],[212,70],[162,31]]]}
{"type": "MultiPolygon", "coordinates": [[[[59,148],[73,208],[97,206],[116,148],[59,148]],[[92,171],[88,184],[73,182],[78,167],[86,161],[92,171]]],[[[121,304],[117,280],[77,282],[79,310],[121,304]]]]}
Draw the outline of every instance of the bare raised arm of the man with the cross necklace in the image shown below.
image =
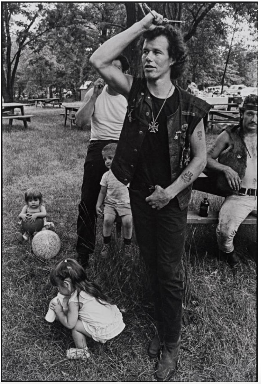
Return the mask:
{"type": "Polygon", "coordinates": [[[112,61],[117,58],[125,48],[139,37],[143,32],[153,30],[157,25],[161,24],[163,17],[152,11],[154,14],[148,13],[142,20],[133,24],[127,30],[118,33],[109,40],[105,41],[90,57],[90,63],[98,71],[105,82],[115,89],[116,92],[128,99],[133,77],[120,71],[112,65],[112,61]]]}

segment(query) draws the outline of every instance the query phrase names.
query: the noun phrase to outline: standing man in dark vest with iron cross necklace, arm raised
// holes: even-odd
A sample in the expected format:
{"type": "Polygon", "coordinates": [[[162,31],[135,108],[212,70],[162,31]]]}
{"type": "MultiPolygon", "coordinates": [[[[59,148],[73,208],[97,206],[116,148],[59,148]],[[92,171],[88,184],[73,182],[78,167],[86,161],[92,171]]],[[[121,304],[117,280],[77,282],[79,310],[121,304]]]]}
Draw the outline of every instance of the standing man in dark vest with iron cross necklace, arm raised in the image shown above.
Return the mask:
{"type": "Polygon", "coordinates": [[[187,206],[191,184],[206,164],[202,118],[210,106],[172,83],[184,70],[184,43],[178,30],[160,26],[162,15],[152,12],[106,41],[90,63],[128,100],[111,169],[123,184],[130,182],[135,233],[154,293],[158,330],[148,353],[156,357],[163,343],[155,372],[163,381],[176,370],[181,343],[187,206]],[[113,60],[141,35],[145,78],[119,74],[113,60]]]}

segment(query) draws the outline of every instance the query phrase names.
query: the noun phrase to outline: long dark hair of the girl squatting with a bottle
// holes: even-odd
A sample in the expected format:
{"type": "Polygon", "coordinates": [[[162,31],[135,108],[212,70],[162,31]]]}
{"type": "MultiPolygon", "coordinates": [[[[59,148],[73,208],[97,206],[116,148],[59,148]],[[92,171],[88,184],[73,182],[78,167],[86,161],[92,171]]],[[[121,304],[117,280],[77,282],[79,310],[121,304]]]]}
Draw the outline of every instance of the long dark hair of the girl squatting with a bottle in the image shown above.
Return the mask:
{"type": "Polygon", "coordinates": [[[89,293],[89,295],[95,297],[99,303],[101,303],[100,300],[111,303],[111,299],[102,292],[100,287],[94,283],[94,281],[90,281],[87,278],[82,266],[74,259],[66,259],[57,262],[51,271],[50,282],[54,286],[62,285],[66,278],[71,279],[72,285],[76,288],[78,294],[80,291],[85,291],[89,293]]]}

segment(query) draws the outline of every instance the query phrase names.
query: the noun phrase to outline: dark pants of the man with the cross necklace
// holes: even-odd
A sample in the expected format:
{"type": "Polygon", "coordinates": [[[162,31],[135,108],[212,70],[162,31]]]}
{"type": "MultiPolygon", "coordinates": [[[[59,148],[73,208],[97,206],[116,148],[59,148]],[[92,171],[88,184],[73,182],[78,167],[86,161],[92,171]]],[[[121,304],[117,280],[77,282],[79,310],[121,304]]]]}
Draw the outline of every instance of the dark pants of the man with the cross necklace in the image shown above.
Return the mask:
{"type": "Polygon", "coordinates": [[[161,210],[145,202],[150,195],[130,189],[133,223],[140,253],[149,273],[155,317],[165,341],[175,342],[181,331],[183,279],[181,257],[185,243],[187,209],[181,211],[177,199],[161,210]]]}

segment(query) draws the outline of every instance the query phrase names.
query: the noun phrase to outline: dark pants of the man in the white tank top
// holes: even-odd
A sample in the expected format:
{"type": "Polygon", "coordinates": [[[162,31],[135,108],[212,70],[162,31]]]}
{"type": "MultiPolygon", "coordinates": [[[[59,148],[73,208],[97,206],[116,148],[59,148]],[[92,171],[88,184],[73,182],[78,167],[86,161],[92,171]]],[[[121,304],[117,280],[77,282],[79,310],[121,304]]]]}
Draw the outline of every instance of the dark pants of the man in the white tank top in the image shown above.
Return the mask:
{"type": "Polygon", "coordinates": [[[82,195],[77,219],[76,250],[86,256],[94,252],[97,220],[95,206],[100,192],[100,180],[108,170],[102,157],[102,149],[112,142],[117,143],[117,140],[91,141],[84,163],[82,195]]]}

